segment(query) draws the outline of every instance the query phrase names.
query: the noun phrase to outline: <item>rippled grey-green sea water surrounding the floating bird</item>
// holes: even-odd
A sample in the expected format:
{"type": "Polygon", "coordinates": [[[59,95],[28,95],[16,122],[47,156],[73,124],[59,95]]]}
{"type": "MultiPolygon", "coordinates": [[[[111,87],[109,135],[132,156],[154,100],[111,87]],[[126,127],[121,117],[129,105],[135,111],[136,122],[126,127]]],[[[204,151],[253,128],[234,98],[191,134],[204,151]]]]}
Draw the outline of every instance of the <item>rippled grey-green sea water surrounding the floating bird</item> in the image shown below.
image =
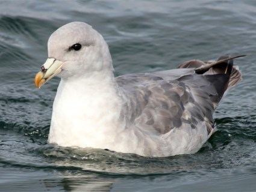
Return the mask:
{"type": "Polygon", "coordinates": [[[256,191],[256,1],[0,1],[0,191],[256,191]],[[58,82],[34,75],[72,21],[107,40],[116,75],[246,54],[196,154],[146,158],[47,143],[58,82]]]}

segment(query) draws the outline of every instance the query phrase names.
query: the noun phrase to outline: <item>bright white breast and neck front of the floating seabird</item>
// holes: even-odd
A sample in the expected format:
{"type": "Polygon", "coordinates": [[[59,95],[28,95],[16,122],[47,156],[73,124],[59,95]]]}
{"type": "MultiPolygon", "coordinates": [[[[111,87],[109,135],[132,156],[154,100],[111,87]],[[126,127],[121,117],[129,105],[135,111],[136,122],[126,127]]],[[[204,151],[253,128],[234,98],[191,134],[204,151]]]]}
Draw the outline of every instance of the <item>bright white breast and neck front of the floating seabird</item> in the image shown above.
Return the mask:
{"type": "Polygon", "coordinates": [[[84,146],[90,146],[98,139],[111,140],[113,134],[122,129],[121,109],[122,99],[111,70],[61,79],[54,100],[49,141],[76,146],[79,140],[84,146]]]}

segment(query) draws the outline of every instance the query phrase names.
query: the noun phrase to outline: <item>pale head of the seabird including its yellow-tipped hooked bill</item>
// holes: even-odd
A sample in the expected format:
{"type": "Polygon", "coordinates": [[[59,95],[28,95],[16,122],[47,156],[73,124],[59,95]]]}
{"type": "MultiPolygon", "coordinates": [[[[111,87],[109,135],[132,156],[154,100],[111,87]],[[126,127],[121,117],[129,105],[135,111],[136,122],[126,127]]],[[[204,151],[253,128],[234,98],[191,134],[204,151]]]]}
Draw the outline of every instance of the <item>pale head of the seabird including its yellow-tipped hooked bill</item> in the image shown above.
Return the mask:
{"type": "Polygon", "coordinates": [[[49,37],[48,59],[34,82],[40,88],[54,76],[67,79],[104,70],[113,70],[104,38],[87,23],[72,22],[61,26],[49,37]]]}

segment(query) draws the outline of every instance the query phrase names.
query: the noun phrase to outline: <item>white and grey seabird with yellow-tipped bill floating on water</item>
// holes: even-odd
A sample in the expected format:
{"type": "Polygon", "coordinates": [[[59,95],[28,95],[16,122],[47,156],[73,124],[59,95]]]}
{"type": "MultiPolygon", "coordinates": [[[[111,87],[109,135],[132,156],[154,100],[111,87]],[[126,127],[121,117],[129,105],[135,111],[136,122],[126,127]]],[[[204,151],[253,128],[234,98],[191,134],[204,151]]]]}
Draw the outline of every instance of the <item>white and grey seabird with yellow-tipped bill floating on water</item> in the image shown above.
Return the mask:
{"type": "Polygon", "coordinates": [[[102,35],[87,23],[67,23],[49,37],[48,59],[34,79],[40,88],[61,77],[48,142],[146,157],[195,153],[215,130],[223,94],[241,80],[237,57],[114,77],[102,35]]]}

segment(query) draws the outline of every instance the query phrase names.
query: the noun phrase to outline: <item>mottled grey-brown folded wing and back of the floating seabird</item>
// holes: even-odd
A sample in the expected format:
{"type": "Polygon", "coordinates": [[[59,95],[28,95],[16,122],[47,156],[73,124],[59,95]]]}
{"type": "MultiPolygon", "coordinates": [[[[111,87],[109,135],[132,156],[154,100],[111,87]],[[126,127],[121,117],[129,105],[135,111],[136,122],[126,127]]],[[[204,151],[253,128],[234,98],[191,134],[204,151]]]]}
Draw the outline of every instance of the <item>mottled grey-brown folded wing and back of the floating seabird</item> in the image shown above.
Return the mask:
{"type": "Polygon", "coordinates": [[[122,118],[158,134],[184,124],[196,128],[204,121],[210,133],[214,109],[228,86],[230,74],[197,74],[195,68],[203,64],[207,63],[193,60],[175,70],[116,77],[126,97],[122,118]]]}

